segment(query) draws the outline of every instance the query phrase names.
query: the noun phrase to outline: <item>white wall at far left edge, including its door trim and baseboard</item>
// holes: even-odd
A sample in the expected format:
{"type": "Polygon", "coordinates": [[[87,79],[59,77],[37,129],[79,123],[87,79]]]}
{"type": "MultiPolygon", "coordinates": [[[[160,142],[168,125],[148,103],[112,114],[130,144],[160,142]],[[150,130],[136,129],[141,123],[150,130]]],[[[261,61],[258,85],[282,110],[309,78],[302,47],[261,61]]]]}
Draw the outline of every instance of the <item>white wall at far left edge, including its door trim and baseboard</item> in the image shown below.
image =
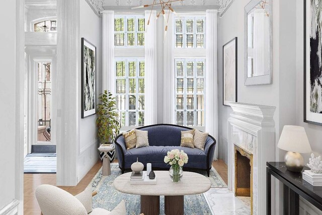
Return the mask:
{"type": "MultiPolygon", "coordinates": [[[[23,78],[20,49],[24,38],[20,14],[23,7],[19,0],[2,5],[0,14],[3,31],[0,34],[0,214],[23,213],[23,78]],[[21,33],[21,34],[20,34],[21,33]],[[18,60],[18,61],[17,61],[18,60]],[[20,71],[22,71],[20,73],[20,71]],[[21,124],[20,124],[21,122],[21,124]],[[20,204],[19,204],[20,203],[20,204]]],[[[23,19],[22,19],[23,20],[23,19]]]]}

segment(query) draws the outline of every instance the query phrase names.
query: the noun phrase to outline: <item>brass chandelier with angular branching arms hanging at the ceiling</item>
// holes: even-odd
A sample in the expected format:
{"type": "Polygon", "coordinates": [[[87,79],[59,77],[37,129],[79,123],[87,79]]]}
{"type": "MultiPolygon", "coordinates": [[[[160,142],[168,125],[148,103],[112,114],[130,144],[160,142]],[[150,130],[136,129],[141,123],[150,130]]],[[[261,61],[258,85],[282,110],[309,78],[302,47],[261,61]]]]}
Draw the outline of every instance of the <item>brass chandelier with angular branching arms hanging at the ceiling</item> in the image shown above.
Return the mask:
{"type": "Polygon", "coordinates": [[[174,15],[179,17],[179,15],[171,7],[172,3],[174,3],[174,2],[183,2],[183,1],[184,0],[168,0],[168,1],[167,0],[153,0],[153,4],[151,4],[151,5],[141,5],[141,6],[133,7],[132,9],[151,7],[150,16],[149,16],[149,19],[147,21],[147,25],[149,25],[151,14],[152,14],[152,11],[153,11],[153,7],[156,6],[156,5],[161,6],[161,11],[156,14],[155,19],[158,19],[160,17],[160,15],[162,15],[164,17],[164,20],[166,22],[165,32],[167,32],[168,31],[168,23],[169,23],[170,12],[174,13],[174,15]],[[165,10],[168,10],[168,9],[169,9],[169,14],[168,14],[168,17],[167,17],[165,10]]]}

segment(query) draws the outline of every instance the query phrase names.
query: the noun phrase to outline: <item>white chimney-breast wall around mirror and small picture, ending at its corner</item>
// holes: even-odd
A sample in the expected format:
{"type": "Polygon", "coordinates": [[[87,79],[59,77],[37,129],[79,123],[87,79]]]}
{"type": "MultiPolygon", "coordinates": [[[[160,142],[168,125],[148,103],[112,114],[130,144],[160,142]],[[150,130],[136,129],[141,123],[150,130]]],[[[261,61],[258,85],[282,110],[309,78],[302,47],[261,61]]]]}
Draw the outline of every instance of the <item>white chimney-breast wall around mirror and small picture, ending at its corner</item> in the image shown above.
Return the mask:
{"type": "MultiPolygon", "coordinates": [[[[222,46],[233,37],[238,38],[237,91],[238,102],[275,106],[275,122],[279,117],[279,6],[273,5],[273,84],[245,86],[244,82],[244,7],[249,0],[234,1],[223,17],[218,19],[218,158],[227,163],[227,119],[232,113],[222,105],[222,46]]],[[[278,127],[278,123],[276,123],[278,127]]]]}

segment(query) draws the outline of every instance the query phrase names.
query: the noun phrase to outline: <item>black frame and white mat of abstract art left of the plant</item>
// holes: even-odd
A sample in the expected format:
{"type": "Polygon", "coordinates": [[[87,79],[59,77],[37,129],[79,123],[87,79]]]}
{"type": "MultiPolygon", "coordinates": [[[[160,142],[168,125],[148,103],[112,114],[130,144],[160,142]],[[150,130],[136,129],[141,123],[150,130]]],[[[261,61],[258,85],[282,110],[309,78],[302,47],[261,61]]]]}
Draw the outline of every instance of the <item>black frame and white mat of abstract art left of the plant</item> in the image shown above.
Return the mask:
{"type": "MultiPolygon", "coordinates": [[[[81,68],[81,70],[82,70],[82,84],[81,84],[81,91],[82,91],[82,104],[81,104],[81,106],[82,106],[82,118],[86,118],[86,117],[89,117],[89,116],[92,116],[92,115],[95,115],[96,114],[96,74],[97,74],[97,66],[96,66],[96,59],[97,59],[97,56],[96,56],[96,46],[95,45],[93,45],[91,42],[89,42],[88,40],[86,40],[84,37],[82,37],[82,60],[81,60],[81,64],[82,64],[82,68],[81,68]],[[94,104],[92,104],[91,103],[91,106],[92,106],[92,109],[89,109],[89,110],[86,110],[86,108],[85,108],[85,106],[86,106],[86,104],[85,104],[85,102],[87,101],[86,99],[85,99],[85,96],[86,96],[86,94],[85,94],[85,91],[86,91],[86,89],[85,89],[85,86],[86,86],[86,84],[85,84],[85,82],[86,82],[86,79],[85,79],[85,75],[87,75],[86,77],[88,77],[88,75],[89,74],[86,74],[88,71],[85,69],[86,68],[86,65],[85,65],[85,48],[86,47],[88,47],[90,50],[92,50],[94,53],[95,53],[95,60],[94,60],[94,62],[95,62],[95,66],[94,66],[94,79],[95,79],[95,81],[93,82],[92,81],[92,85],[94,84],[95,85],[95,87],[92,89],[92,90],[94,90],[94,95],[92,95],[92,97],[90,98],[91,100],[92,100],[92,102],[94,103],[94,104]]],[[[93,75],[91,76],[92,78],[93,78],[93,75]]],[[[88,88],[91,88],[89,85],[88,85],[88,88]]]]}

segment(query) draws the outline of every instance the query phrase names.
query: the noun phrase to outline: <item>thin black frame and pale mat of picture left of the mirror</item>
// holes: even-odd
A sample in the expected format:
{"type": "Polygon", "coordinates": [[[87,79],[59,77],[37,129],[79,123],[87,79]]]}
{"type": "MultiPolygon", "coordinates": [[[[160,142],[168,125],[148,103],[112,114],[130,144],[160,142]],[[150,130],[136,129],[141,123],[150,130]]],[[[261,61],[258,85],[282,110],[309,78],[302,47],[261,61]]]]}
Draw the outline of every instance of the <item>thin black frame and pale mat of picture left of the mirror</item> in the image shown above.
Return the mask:
{"type": "Polygon", "coordinates": [[[237,95],[238,95],[238,83],[237,83],[237,80],[238,80],[238,77],[237,77],[237,62],[238,62],[238,38],[237,37],[234,37],[232,38],[231,40],[229,40],[226,44],[224,44],[222,46],[222,105],[224,106],[229,106],[229,104],[227,104],[225,102],[225,46],[229,45],[230,43],[232,42],[235,42],[235,80],[234,80],[234,83],[235,83],[235,100],[234,101],[229,101],[229,102],[237,102],[237,95]]]}

